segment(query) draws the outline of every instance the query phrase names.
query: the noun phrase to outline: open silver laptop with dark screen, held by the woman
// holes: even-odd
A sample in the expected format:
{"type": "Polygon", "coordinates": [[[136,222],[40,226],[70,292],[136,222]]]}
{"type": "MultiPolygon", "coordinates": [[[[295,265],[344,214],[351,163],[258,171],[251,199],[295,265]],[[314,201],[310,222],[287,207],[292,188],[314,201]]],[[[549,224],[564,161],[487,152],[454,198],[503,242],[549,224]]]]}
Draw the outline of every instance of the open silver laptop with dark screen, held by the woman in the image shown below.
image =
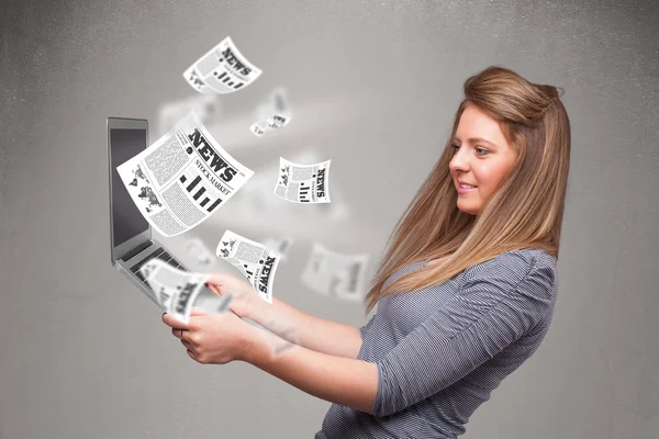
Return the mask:
{"type": "MultiPolygon", "coordinates": [[[[108,175],[110,178],[110,247],[112,266],[163,311],[139,269],[152,259],[160,259],[179,270],[189,271],[165,246],[152,237],[150,225],[131,199],[116,167],[148,147],[148,121],[108,117],[108,175]]],[[[204,286],[194,306],[223,312],[231,296],[220,297],[204,286]]]]}

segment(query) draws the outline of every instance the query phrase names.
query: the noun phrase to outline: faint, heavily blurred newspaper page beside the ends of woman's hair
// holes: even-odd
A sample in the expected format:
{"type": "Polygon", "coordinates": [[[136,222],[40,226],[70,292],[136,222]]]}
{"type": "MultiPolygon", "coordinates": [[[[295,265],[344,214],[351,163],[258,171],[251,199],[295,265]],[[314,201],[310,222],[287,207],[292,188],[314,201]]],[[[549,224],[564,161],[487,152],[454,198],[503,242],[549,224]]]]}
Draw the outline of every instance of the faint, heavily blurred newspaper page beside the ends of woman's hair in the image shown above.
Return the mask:
{"type": "Polygon", "coordinates": [[[366,286],[369,255],[343,255],[314,243],[301,280],[323,295],[360,301],[366,286]]]}

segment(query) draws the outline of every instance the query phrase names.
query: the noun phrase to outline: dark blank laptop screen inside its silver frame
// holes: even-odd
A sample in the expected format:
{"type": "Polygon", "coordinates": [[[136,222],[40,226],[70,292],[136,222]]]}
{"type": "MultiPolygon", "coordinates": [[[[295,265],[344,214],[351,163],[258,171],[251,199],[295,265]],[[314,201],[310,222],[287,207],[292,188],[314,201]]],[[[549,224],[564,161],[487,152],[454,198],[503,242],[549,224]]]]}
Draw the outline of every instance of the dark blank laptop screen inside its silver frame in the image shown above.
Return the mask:
{"type": "Polygon", "coordinates": [[[110,157],[112,157],[112,236],[114,247],[148,228],[148,222],[137,210],[116,167],[146,148],[146,130],[110,130],[110,157]]]}

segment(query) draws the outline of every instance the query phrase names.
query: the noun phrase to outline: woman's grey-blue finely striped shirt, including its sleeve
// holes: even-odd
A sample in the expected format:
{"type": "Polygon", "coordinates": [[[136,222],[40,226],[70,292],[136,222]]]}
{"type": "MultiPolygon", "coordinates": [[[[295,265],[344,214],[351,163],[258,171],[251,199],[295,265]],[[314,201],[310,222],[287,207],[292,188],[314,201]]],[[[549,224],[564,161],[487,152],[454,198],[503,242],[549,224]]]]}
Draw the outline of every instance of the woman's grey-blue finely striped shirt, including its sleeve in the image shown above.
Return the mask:
{"type": "MultiPolygon", "coordinates": [[[[387,282],[425,266],[409,264],[387,282]]],[[[333,404],[315,439],[456,438],[501,381],[538,348],[551,323],[557,259],[506,251],[453,279],[378,301],[358,360],[378,367],[368,413],[333,404]]]]}

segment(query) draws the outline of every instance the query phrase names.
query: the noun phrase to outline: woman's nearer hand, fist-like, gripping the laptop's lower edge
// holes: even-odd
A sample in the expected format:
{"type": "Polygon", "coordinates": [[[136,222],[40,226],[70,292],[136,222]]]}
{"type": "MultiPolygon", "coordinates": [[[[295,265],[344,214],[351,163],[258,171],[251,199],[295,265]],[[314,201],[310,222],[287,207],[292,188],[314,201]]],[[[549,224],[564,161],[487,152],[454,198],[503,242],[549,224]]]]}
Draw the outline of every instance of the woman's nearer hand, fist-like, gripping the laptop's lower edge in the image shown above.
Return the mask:
{"type": "MultiPolygon", "coordinates": [[[[260,300],[260,299],[259,299],[260,300]]],[[[258,330],[233,313],[206,314],[192,307],[189,323],[163,314],[165,325],[181,340],[188,354],[202,364],[248,361],[258,330]]]]}

